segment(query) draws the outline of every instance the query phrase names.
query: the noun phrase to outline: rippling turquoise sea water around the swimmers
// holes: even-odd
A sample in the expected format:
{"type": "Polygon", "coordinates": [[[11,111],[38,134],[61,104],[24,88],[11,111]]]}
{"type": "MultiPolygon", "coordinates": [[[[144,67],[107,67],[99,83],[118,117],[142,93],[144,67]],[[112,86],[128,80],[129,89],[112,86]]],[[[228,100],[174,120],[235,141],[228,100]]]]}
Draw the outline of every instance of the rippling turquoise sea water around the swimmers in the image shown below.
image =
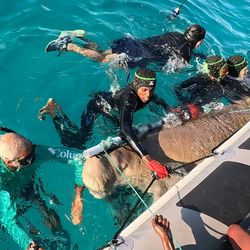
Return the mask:
{"type": "MultiPolygon", "coordinates": [[[[167,16],[179,5],[178,1],[0,0],[0,3],[0,125],[20,132],[36,144],[60,146],[51,120],[40,122],[36,118],[37,111],[49,97],[54,97],[79,124],[89,94],[96,90],[107,91],[111,86],[124,86],[126,81],[121,69],[111,69],[109,65],[100,65],[73,53],[60,57],[55,53],[46,54],[46,44],[62,30],[85,29],[88,38],[105,49],[124,34],[145,38],[173,30],[184,31],[190,24],[199,23],[206,28],[207,36],[198,51],[225,57],[240,53],[250,59],[249,0],[190,0],[180,16],[171,22],[167,16]]],[[[196,69],[201,62],[192,60],[188,70],[196,69]]],[[[195,73],[159,73],[156,93],[175,104],[171,86],[195,73]]],[[[152,121],[155,116],[147,110],[140,112],[135,123],[152,121]]],[[[101,137],[101,124],[96,126],[99,129],[88,142],[89,146],[101,137]]],[[[73,197],[72,169],[60,163],[53,166],[44,163],[38,174],[49,192],[55,193],[63,204],[50,204],[50,200],[46,200],[48,206],[58,212],[63,227],[79,249],[95,249],[113,236],[117,229],[114,210],[88,192],[84,194],[83,224],[75,227],[67,219],[73,197]]],[[[38,211],[30,213],[39,225],[36,222],[38,211]]],[[[18,249],[3,231],[0,240],[1,249],[18,249]]]]}

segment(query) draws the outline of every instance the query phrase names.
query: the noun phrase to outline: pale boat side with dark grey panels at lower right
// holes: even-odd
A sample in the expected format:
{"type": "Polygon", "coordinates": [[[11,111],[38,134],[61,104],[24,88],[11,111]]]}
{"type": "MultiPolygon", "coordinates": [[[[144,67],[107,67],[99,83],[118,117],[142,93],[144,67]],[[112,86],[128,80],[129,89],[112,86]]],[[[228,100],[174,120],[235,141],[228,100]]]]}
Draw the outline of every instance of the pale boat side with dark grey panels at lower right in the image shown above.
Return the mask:
{"type": "MultiPolygon", "coordinates": [[[[228,226],[246,222],[250,211],[250,122],[215,153],[150,207],[170,221],[176,249],[228,249],[228,226]]],[[[117,249],[162,249],[151,220],[149,211],[140,215],[123,230],[125,242],[117,249]]]]}

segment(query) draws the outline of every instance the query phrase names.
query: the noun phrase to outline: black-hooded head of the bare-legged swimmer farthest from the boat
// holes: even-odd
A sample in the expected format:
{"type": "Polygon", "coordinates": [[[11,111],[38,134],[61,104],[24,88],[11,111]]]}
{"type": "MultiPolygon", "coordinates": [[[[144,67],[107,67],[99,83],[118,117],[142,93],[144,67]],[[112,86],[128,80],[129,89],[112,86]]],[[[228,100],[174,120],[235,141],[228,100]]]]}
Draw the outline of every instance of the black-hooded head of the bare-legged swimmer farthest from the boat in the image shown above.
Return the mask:
{"type": "Polygon", "coordinates": [[[193,24],[186,29],[184,32],[185,38],[191,43],[194,48],[197,42],[204,39],[206,35],[206,30],[198,24],[193,24]]]}

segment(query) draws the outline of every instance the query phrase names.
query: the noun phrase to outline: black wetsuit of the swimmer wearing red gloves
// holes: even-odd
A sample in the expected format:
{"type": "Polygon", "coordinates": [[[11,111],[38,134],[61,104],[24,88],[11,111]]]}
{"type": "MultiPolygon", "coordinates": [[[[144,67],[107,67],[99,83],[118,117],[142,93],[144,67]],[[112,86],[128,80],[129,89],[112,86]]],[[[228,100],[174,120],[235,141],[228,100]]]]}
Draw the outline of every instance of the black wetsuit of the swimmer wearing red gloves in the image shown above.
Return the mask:
{"type": "MultiPolygon", "coordinates": [[[[164,100],[155,96],[150,101],[161,105],[166,110],[169,108],[164,100]]],[[[111,92],[96,93],[94,98],[89,101],[86,111],[82,114],[80,129],[64,114],[57,115],[53,121],[61,136],[63,145],[84,149],[86,140],[92,134],[96,117],[102,114],[117,127],[120,127],[122,139],[127,141],[142,157],[147,152],[139,142],[132,123],[134,113],[145,107],[149,102],[143,103],[132,87],[128,85],[126,88],[116,92],[114,96],[112,96],[111,92]]]]}

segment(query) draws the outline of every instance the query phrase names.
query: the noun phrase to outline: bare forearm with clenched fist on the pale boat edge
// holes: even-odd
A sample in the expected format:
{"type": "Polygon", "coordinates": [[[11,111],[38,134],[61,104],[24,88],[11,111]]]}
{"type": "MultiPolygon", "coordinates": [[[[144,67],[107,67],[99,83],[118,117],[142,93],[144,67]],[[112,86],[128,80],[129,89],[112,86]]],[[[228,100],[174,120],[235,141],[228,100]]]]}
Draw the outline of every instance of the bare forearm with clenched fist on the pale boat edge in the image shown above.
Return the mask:
{"type": "Polygon", "coordinates": [[[162,215],[156,215],[151,221],[152,227],[156,234],[160,237],[164,250],[174,250],[174,246],[169,238],[168,231],[170,230],[169,221],[162,215]]]}

